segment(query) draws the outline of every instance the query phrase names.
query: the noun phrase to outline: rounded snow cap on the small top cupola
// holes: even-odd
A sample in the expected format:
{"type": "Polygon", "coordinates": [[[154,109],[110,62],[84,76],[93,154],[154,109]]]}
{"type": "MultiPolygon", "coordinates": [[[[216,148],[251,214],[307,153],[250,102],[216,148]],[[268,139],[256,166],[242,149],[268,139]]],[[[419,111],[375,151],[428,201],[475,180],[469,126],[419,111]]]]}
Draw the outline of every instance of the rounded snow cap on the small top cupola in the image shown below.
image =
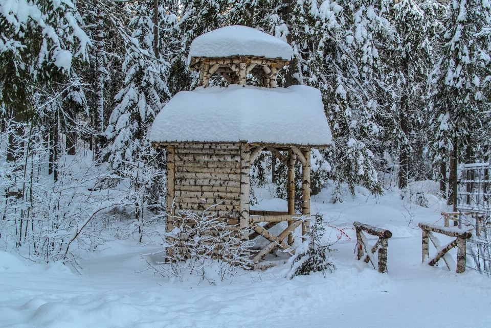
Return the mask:
{"type": "Polygon", "coordinates": [[[198,36],[189,49],[191,57],[257,56],[291,60],[292,47],[272,35],[240,25],[228,26],[198,36]]]}

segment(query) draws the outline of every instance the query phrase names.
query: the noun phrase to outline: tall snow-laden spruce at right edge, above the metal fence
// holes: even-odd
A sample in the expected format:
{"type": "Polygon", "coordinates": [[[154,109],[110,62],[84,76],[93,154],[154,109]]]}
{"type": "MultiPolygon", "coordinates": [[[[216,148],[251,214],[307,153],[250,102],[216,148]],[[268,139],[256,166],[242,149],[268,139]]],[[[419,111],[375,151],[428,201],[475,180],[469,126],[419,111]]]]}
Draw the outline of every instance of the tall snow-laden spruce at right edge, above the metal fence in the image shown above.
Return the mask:
{"type": "Polygon", "coordinates": [[[440,58],[431,74],[430,136],[435,168],[450,153],[449,204],[456,199],[457,163],[467,149],[467,161],[487,134],[490,104],[491,5],[487,0],[452,0],[444,17],[438,49],[440,58]],[[481,134],[481,137],[480,137],[481,134]]]}

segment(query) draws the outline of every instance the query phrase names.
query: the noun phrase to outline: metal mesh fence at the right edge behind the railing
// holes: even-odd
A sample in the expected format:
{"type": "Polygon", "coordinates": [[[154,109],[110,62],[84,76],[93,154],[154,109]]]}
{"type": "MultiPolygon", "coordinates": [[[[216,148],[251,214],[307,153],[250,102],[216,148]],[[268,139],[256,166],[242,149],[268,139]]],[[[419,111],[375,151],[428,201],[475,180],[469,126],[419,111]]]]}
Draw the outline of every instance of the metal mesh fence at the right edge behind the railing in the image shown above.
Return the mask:
{"type": "Polygon", "coordinates": [[[491,276],[491,165],[466,164],[457,188],[459,228],[472,232],[467,239],[466,267],[491,276]]]}

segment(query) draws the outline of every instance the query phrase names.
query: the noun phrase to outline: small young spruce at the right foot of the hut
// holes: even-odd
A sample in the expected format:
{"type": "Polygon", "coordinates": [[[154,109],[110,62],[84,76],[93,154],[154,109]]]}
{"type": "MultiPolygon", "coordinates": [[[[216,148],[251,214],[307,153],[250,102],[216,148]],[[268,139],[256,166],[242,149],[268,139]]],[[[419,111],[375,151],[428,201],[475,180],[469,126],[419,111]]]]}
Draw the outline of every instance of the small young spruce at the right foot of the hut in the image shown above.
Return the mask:
{"type": "Polygon", "coordinates": [[[332,245],[322,245],[322,236],[325,233],[324,217],[317,213],[315,223],[306,232],[306,240],[296,250],[295,256],[290,260],[292,269],[287,273],[287,277],[292,279],[297,275],[308,275],[310,272],[321,271],[326,269],[332,272],[336,266],[329,259],[329,253],[333,250],[329,248],[332,245]]]}

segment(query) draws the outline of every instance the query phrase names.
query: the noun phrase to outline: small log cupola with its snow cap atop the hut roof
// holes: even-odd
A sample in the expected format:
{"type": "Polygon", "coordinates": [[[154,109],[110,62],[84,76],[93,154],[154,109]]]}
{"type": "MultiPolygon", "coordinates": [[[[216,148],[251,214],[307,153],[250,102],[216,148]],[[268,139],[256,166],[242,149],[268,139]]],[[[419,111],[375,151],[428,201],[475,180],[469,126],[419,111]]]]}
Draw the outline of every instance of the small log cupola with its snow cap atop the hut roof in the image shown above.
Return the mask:
{"type": "Polygon", "coordinates": [[[261,86],[276,87],[276,76],[292,59],[293,49],[283,40],[246,26],[228,26],[198,36],[189,50],[190,71],[199,71],[200,85],[214,75],[229,84],[246,84],[252,74],[261,86]]]}

